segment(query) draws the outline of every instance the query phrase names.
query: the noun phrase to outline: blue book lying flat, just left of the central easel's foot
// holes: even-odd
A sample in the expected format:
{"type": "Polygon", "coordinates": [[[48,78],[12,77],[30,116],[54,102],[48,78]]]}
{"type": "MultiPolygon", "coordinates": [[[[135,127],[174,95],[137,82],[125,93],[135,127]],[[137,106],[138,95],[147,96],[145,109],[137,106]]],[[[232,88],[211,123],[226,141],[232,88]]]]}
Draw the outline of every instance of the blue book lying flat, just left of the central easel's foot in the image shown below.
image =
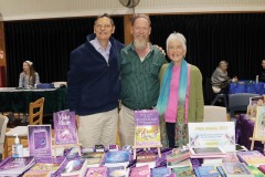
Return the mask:
{"type": "Polygon", "coordinates": [[[105,158],[105,166],[127,166],[130,160],[130,153],[128,150],[107,152],[105,158]]]}

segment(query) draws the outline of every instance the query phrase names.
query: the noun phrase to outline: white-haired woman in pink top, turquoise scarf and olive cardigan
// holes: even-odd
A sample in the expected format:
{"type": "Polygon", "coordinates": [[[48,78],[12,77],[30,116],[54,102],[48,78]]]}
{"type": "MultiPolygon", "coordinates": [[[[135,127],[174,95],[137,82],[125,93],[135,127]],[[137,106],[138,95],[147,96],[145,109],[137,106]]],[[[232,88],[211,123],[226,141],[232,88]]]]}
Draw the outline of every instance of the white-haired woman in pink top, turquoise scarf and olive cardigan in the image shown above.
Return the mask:
{"type": "Polygon", "coordinates": [[[167,39],[170,63],[163,64],[159,74],[160,134],[163,147],[180,147],[188,143],[188,123],[202,122],[203,93],[200,70],[186,61],[187,44],[181,33],[167,39]]]}

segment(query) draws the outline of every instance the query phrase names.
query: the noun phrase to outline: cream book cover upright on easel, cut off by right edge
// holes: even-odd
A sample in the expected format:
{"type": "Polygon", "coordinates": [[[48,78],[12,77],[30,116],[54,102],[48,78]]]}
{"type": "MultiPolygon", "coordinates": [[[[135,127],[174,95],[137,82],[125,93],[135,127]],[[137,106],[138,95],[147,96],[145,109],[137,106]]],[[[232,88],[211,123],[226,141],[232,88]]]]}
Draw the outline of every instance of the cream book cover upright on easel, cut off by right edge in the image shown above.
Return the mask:
{"type": "Polygon", "coordinates": [[[257,106],[253,134],[254,138],[263,139],[265,137],[265,106],[257,106]]]}

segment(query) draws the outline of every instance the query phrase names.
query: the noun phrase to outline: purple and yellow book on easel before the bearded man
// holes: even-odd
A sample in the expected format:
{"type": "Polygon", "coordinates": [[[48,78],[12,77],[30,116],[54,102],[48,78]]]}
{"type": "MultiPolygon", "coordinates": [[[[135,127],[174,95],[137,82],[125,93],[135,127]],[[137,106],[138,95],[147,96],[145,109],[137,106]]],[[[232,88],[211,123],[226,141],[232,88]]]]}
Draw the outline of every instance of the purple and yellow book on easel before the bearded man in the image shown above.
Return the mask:
{"type": "Polygon", "coordinates": [[[160,146],[159,114],[157,110],[135,111],[136,146],[160,146]]]}

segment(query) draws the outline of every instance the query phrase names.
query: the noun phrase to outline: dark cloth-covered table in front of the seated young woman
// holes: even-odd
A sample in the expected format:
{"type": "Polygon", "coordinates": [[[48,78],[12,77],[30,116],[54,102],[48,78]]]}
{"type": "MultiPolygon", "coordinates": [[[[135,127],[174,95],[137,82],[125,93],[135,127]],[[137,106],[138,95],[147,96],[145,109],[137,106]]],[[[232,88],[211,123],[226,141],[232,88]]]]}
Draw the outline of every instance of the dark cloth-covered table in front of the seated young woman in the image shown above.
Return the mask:
{"type": "Polygon", "coordinates": [[[17,90],[0,87],[0,112],[28,113],[29,104],[44,97],[43,114],[66,110],[67,88],[17,90]]]}

